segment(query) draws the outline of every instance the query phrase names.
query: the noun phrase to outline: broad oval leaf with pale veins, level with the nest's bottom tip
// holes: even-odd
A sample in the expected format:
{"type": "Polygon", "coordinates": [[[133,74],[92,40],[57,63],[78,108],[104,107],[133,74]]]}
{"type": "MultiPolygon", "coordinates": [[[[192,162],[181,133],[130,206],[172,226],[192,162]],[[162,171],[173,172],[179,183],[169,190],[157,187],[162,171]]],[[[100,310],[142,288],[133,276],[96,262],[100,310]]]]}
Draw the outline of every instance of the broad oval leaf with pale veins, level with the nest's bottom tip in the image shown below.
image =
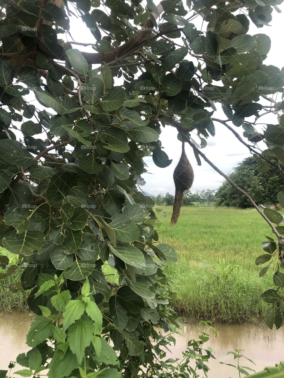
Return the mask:
{"type": "Polygon", "coordinates": [[[132,243],[139,238],[140,232],[138,227],[123,214],[115,214],[111,217],[112,222],[109,227],[114,230],[115,237],[126,243],[132,243]]]}

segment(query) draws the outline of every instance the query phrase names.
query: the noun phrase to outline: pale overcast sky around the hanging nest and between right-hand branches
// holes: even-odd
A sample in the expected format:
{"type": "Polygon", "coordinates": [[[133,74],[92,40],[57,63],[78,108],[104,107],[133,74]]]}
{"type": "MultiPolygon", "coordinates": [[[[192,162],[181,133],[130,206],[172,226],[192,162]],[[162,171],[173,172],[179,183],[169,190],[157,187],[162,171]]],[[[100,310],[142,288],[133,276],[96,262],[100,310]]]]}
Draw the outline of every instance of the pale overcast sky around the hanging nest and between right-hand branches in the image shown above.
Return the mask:
{"type": "MultiPolygon", "coordinates": [[[[155,4],[158,2],[155,0],[155,4]]],[[[283,6],[279,6],[284,9],[283,6]]],[[[201,17],[196,18],[192,22],[195,23],[197,29],[201,29],[201,17]]],[[[204,23],[201,30],[206,30],[207,23],[204,23]]],[[[272,13],[272,22],[271,26],[264,26],[263,28],[257,28],[250,21],[250,29],[248,34],[254,35],[258,33],[265,33],[271,39],[271,49],[268,53],[268,57],[264,60],[266,65],[275,65],[278,68],[282,68],[284,65],[282,45],[283,45],[283,14],[273,10],[272,13]]],[[[86,28],[86,25],[83,24],[81,19],[71,18],[70,22],[70,34],[76,42],[90,42],[95,43],[95,39],[92,36],[91,32],[86,28]]],[[[60,36],[62,37],[62,36],[60,36]]],[[[66,38],[64,38],[66,40],[66,38]]],[[[70,41],[70,37],[68,37],[70,41]]],[[[175,40],[178,43],[178,40],[175,40]]],[[[83,47],[73,45],[73,48],[79,48],[80,51],[90,51],[94,52],[91,47],[83,47]]],[[[194,58],[193,58],[194,59],[194,58]]],[[[190,60],[193,60],[190,59],[190,60]]],[[[194,62],[194,60],[193,60],[194,62]]],[[[195,62],[194,62],[195,63],[195,62]]],[[[97,65],[93,65],[93,68],[96,68],[97,65]]],[[[115,85],[119,85],[121,82],[118,80],[115,82],[115,85]]],[[[219,84],[220,85],[220,84],[219,84]]],[[[276,95],[273,96],[273,99],[276,100],[276,95]]],[[[277,100],[281,101],[281,94],[277,95],[277,100]]],[[[267,102],[266,102],[267,104],[267,102]]],[[[210,108],[208,108],[209,110],[210,108]]],[[[214,118],[226,119],[226,116],[220,110],[220,106],[217,106],[217,112],[213,115],[214,118]]],[[[248,118],[249,121],[254,121],[254,117],[248,118]]],[[[267,123],[277,123],[274,119],[272,121],[271,116],[265,118],[262,117],[261,122],[267,123]]],[[[241,136],[243,133],[242,127],[236,127],[230,122],[228,122],[241,136]]],[[[206,148],[202,149],[202,152],[211,160],[215,166],[217,166],[225,174],[232,172],[233,167],[236,167],[244,158],[250,156],[250,152],[246,146],[241,144],[234,136],[231,131],[229,131],[224,125],[214,122],[216,134],[214,137],[211,135],[207,139],[206,148]]],[[[262,131],[263,125],[257,125],[256,130],[262,131]]],[[[194,135],[192,135],[194,138],[194,135]]],[[[198,137],[196,136],[195,141],[198,142],[198,137]]],[[[143,178],[146,181],[146,184],[143,186],[143,190],[152,194],[158,195],[161,193],[165,195],[167,192],[170,194],[175,193],[175,186],[173,183],[173,170],[175,169],[176,164],[179,161],[181,155],[181,142],[177,139],[177,131],[172,126],[162,127],[162,133],[160,135],[160,140],[164,151],[169,156],[169,159],[173,159],[172,164],[166,168],[159,168],[154,163],[151,157],[144,158],[145,163],[147,164],[147,170],[149,173],[143,174],[143,178]]],[[[247,141],[247,140],[246,140],[247,141]]],[[[263,143],[257,144],[260,148],[263,147],[263,143]]],[[[202,189],[217,189],[222,182],[225,180],[217,172],[215,172],[205,161],[202,161],[201,166],[197,165],[195,156],[191,147],[186,145],[186,154],[192,164],[194,170],[194,181],[191,187],[191,191],[195,192],[196,190],[202,189]]]]}

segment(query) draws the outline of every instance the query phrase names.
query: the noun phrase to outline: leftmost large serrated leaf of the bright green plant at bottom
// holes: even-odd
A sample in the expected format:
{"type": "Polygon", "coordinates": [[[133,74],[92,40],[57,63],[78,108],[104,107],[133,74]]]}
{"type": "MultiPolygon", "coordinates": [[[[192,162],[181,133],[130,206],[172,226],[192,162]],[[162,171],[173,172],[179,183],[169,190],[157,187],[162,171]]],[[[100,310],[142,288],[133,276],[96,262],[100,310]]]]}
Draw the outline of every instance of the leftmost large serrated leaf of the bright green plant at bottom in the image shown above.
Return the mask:
{"type": "Polygon", "coordinates": [[[53,335],[52,321],[43,316],[36,315],[27,334],[27,345],[36,347],[53,335]]]}

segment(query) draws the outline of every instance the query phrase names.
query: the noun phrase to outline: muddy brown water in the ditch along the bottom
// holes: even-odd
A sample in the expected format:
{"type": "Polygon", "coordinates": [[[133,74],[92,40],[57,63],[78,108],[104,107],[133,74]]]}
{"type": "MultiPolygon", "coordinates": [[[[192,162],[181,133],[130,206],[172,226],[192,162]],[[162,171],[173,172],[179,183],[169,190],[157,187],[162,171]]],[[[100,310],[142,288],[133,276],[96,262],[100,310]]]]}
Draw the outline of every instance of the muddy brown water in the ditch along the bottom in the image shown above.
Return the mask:
{"type": "MultiPolygon", "coordinates": [[[[7,369],[10,361],[16,361],[19,353],[27,352],[29,349],[25,341],[32,319],[32,315],[23,313],[0,313],[0,369],[7,369]]],[[[237,370],[219,364],[220,361],[236,363],[232,355],[227,355],[229,350],[244,349],[244,355],[252,359],[256,366],[246,360],[240,361],[241,364],[256,371],[264,369],[265,366],[274,366],[276,362],[283,360],[284,328],[272,331],[264,325],[251,324],[215,324],[214,327],[218,332],[217,338],[212,333],[210,340],[204,344],[205,347],[212,347],[216,357],[216,360],[209,360],[208,378],[239,376],[237,370]]],[[[203,330],[198,323],[183,327],[181,333],[184,336],[176,336],[176,346],[167,357],[181,357],[187,341],[197,339],[203,330]]]]}

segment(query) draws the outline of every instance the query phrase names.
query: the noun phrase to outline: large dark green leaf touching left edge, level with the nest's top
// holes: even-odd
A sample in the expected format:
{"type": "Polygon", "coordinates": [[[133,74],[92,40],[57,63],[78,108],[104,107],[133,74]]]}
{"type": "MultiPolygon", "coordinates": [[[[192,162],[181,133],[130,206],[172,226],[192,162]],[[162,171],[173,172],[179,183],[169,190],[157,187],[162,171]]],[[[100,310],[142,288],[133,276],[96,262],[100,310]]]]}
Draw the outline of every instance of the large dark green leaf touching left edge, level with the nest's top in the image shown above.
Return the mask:
{"type": "Polygon", "coordinates": [[[27,151],[27,148],[18,141],[11,139],[0,140],[1,157],[9,164],[20,167],[30,167],[36,163],[35,158],[27,151]]]}

